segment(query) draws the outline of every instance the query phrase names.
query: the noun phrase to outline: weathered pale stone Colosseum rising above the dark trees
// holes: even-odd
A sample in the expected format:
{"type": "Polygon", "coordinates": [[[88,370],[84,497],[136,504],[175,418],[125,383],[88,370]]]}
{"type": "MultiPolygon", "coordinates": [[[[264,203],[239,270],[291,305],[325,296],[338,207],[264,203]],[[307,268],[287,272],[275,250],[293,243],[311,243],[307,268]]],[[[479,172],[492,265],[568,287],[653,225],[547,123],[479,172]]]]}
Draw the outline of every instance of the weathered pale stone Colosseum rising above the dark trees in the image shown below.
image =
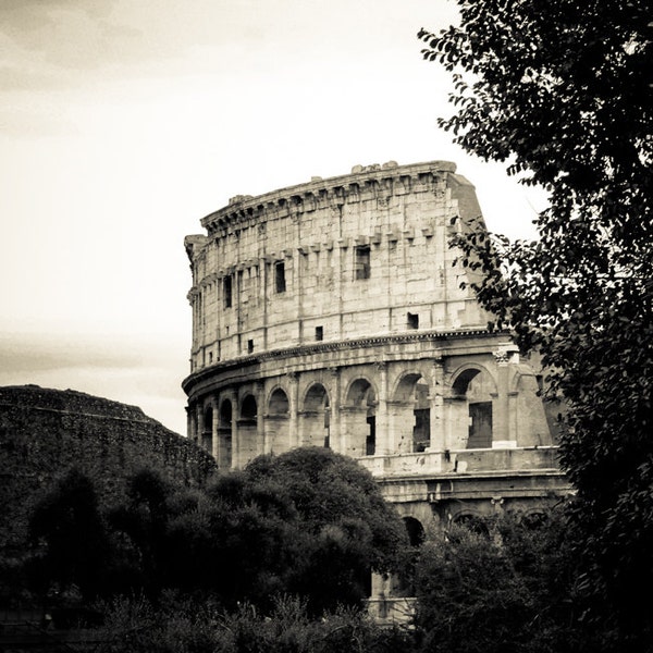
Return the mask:
{"type": "Polygon", "coordinates": [[[188,436],[222,468],[301,445],[353,456],[415,538],[566,493],[539,370],[488,330],[454,264],[451,236],[480,217],[455,164],[432,161],[357,165],[204,218],[185,239],[188,436]]]}

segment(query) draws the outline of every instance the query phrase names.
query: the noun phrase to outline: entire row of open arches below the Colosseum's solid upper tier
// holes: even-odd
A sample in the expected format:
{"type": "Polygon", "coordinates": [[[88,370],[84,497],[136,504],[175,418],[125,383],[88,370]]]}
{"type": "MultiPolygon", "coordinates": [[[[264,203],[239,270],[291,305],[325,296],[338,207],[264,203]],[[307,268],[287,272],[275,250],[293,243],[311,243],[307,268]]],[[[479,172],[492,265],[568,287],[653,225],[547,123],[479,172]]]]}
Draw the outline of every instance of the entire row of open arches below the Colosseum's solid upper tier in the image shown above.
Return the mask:
{"type": "Polygon", "coordinates": [[[297,445],[331,446],[354,457],[421,453],[434,446],[492,447],[498,392],[484,367],[461,367],[452,374],[446,396],[423,370],[398,374],[391,393],[379,391],[372,366],[367,371],[348,374],[342,390],[325,373],[308,383],[287,375],[224,389],[192,409],[190,433],[221,467],[297,445]]]}

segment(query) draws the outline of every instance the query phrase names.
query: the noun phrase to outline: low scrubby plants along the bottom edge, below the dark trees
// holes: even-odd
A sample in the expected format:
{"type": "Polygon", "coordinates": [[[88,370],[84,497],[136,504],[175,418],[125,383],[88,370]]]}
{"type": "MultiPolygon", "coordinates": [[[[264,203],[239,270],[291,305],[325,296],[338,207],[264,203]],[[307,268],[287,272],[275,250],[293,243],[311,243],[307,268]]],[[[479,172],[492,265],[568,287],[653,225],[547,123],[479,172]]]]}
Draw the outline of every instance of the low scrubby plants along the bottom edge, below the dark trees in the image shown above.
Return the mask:
{"type": "Polygon", "coordinates": [[[280,596],[269,615],[251,604],[224,612],[169,596],[153,608],[120,599],[107,606],[98,653],[383,653],[411,650],[410,633],[382,628],[359,611],[340,608],[312,619],[306,603],[280,596]]]}

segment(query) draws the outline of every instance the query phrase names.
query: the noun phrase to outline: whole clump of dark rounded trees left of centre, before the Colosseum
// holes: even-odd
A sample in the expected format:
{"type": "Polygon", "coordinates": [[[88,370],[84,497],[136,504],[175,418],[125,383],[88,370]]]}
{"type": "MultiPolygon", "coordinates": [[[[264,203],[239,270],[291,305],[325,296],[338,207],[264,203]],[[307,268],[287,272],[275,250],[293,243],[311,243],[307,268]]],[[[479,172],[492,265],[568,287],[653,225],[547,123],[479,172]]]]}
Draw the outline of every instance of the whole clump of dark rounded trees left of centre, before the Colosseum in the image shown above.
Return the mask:
{"type": "Polygon", "coordinates": [[[293,594],[316,616],[360,607],[370,568],[397,564],[406,539],[369,472],[317,447],[260,457],[204,490],[147,469],[127,485],[108,515],[79,472],[46,496],[33,517],[35,578],[86,600],[176,591],[225,609],[268,611],[293,594]]]}

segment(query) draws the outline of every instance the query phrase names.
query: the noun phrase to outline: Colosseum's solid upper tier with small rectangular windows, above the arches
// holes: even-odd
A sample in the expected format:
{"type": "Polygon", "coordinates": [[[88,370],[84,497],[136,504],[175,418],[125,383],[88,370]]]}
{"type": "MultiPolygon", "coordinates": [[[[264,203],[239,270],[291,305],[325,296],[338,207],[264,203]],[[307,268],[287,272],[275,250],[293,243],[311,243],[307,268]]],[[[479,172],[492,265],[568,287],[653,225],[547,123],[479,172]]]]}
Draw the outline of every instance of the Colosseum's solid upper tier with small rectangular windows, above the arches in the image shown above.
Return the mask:
{"type": "Polygon", "coordinates": [[[480,219],[454,163],[355,167],[237,196],[185,239],[192,261],[192,374],[316,342],[484,329],[448,247],[480,219]],[[459,220],[456,220],[459,219],[459,220]]]}

